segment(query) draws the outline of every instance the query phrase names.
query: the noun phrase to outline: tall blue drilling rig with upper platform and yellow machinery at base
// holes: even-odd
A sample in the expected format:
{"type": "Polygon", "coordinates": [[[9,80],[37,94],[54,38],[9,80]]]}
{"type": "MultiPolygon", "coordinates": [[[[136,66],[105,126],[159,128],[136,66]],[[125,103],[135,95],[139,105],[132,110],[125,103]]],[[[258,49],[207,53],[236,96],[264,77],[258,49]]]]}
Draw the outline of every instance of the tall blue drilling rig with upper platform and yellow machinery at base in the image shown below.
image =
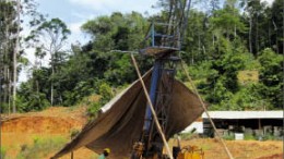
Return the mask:
{"type": "MultiPolygon", "coordinates": [[[[167,126],[167,111],[171,102],[173,82],[176,65],[180,61],[177,52],[181,50],[182,38],[187,27],[190,0],[169,0],[168,22],[152,22],[139,52],[155,59],[150,98],[157,114],[162,131],[167,126]],[[165,77],[167,76],[167,77],[165,77]]],[[[140,140],[134,143],[131,159],[166,159],[163,155],[164,143],[153,121],[147,105],[140,140]]],[[[203,159],[203,151],[197,147],[174,147],[175,159],[203,159]]]]}

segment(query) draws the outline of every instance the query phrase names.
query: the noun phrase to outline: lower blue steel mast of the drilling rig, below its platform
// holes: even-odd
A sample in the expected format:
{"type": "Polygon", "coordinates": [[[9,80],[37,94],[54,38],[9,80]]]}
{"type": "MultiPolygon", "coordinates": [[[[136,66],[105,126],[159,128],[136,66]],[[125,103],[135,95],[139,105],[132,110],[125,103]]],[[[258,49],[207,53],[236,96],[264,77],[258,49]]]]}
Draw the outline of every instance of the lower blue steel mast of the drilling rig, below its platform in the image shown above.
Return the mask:
{"type": "MultiPolygon", "coordinates": [[[[168,123],[167,114],[169,106],[171,105],[177,62],[179,62],[179,58],[176,57],[157,59],[152,73],[150,97],[151,101],[154,103],[154,109],[164,133],[166,132],[168,123]]],[[[150,106],[146,108],[143,130],[143,157],[149,158],[158,155],[158,158],[162,158],[164,144],[156,130],[155,123],[152,120],[150,106]]]]}

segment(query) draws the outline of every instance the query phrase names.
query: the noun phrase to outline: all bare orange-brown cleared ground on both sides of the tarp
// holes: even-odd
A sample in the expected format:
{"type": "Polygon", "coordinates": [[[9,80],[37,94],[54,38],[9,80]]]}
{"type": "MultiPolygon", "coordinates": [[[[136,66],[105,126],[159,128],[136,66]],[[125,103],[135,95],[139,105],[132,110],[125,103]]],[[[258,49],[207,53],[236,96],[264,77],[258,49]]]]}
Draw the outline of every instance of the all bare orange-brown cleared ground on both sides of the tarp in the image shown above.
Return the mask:
{"type": "MultiPolygon", "coordinates": [[[[1,126],[1,143],[5,158],[50,158],[71,138],[72,132],[85,124],[85,108],[50,108],[43,112],[5,117],[1,126]]],[[[169,145],[175,145],[171,139],[169,145]]],[[[282,140],[226,140],[235,159],[282,159],[282,140]]],[[[227,159],[217,139],[193,138],[182,140],[182,146],[196,145],[204,150],[205,159],[227,159]]],[[[96,154],[81,148],[74,151],[75,159],[95,159],[96,154]]],[[[70,159],[70,155],[63,157],[70,159]]]]}

